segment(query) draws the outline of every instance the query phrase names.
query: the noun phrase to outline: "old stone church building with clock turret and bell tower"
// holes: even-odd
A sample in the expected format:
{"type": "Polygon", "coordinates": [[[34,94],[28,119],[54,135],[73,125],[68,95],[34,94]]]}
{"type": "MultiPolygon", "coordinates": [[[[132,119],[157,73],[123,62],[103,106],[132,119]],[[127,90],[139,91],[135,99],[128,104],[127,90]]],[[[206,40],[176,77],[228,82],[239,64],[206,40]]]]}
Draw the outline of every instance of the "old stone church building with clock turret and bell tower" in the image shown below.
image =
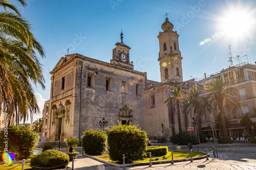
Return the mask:
{"type": "MultiPolygon", "coordinates": [[[[81,139],[89,129],[104,129],[99,121],[112,124],[139,125],[148,136],[173,134],[169,107],[164,104],[172,86],[182,85],[183,92],[195,85],[183,82],[179,35],[165,19],[159,32],[159,65],[161,82],[147,80],[146,72],[134,70],[130,47],[122,41],[115,44],[110,63],[80,54],[62,57],[50,72],[50,100],[45,103],[42,127],[47,141],[81,139]],[[162,126],[163,125],[163,126],[162,126]]],[[[180,108],[181,109],[181,108],[180,108]]],[[[181,112],[182,113],[182,112],[181,112]]],[[[173,116],[178,131],[177,115],[173,116]]],[[[182,129],[187,119],[181,114],[182,129]]]]}

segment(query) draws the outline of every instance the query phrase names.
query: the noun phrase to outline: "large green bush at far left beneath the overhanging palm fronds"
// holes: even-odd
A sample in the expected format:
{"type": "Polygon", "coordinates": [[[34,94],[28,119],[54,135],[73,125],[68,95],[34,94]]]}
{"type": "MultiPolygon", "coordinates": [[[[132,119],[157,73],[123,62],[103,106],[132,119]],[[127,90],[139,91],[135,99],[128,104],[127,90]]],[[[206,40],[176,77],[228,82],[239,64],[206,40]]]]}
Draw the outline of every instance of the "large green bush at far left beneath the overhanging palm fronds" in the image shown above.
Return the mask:
{"type": "MultiPolygon", "coordinates": [[[[0,142],[4,142],[4,130],[0,133],[0,142]]],[[[8,151],[15,154],[15,159],[28,159],[33,156],[33,151],[39,141],[38,134],[23,127],[8,127],[8,151]]],[[[4,151],[4,144],[0,144],[4,151]]]]}

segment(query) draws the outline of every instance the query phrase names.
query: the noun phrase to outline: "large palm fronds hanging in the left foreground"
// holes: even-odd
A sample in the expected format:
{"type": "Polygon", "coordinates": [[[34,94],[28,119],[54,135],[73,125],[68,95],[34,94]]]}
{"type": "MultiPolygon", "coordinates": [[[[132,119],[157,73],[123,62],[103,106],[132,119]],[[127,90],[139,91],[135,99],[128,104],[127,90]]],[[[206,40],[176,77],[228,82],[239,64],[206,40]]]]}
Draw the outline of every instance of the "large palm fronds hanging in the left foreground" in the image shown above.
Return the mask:
{"type": "MultiPolygon", "coordinates": [[[[17,1],[26,6],[24,0],[17,1]]],[[[45,54],[16,7],[9,1],[1,1],[0,6],[5,9],[0,11],[0,109],[3,106],[10,117],[16,116],[18,124],[39,112],[31,82],[45,88],[36,52],[45,54]]]]}

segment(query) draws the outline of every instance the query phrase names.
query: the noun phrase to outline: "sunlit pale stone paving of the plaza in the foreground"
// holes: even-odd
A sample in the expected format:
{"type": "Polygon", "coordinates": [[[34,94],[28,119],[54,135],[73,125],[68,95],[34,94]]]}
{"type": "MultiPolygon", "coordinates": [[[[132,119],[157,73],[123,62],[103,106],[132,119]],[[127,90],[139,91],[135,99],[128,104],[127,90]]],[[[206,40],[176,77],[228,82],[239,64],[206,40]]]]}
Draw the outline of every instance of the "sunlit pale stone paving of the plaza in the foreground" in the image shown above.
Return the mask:
{"type": "MultiPolygon", "coordinates": [[[[167,145],[169,150],[174,150],[174,146],[171,143],[153,143],[153,145],[167,145]]],[[[204,144],[199,145],[199,151],[205,151],[204,144]]],[[[212,145],[207,143],[207,148],[211,148],[212,145]]],[[[181,147],[182,150],[188,150],[185,146],[181,147]]],[[[194,146],[192,150],[197,151],[197,147],[194,146]]],[[[78,150],[79,151],[79,150],[78,150]]],[[[218,144],[217,147],[218,156],[214,158],[210,153],[209,160],[195,160],[193,163],[190,161],[168,164],[156,164],[152,167],[148,165],[125,167],[126,169],[256,169],[256,144],[250,143],[236,143],[236,144],[218,144]]],[[[80,151],[79,151],[80,152],[80,151]]],[[[81,153],[81,152],[80,152],[81,153]]],[[[108,164],[104,164],[97,160],[82,156],[77,156],[74,163],[75,169],[84,170],[96,170],[98,165],[104,165],[106,170],[122,169],[122,167],[115,167],[108,164]]],[[[70,162],[69,166],[72,166],[70,162]]]]}

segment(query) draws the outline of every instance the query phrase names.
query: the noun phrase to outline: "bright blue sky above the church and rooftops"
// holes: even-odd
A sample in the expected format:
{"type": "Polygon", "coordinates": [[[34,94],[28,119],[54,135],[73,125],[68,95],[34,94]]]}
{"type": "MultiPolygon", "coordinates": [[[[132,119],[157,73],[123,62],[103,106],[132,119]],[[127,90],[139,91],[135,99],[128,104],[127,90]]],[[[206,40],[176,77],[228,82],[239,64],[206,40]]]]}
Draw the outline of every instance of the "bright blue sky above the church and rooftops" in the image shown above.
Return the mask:
{"type": "MultiPolygon", "coordinates": [[[[150,80],[160,81],[157,36],[162,31],[165,12],[180,35],[183,81],[227,68],[229,45],[233,57],[247,55],[249,63],[256,61],[254,0],[27,2],[27,8],[15,4],[32,24],[34,35],[46,52],[46,59],[40,60],[44,65],[46,90],[34,89],[40,106],[50,98],[49,72],[67,54],[68,48],[69,54],[110,62],[121,29],[124,43],[131,47],[134,69],[147,72],[150,80]]],[[[247,57],[241,61],[247,62],[247,57]]],[[[233,65],[239,64],[234,60],[233,65]]]]}

